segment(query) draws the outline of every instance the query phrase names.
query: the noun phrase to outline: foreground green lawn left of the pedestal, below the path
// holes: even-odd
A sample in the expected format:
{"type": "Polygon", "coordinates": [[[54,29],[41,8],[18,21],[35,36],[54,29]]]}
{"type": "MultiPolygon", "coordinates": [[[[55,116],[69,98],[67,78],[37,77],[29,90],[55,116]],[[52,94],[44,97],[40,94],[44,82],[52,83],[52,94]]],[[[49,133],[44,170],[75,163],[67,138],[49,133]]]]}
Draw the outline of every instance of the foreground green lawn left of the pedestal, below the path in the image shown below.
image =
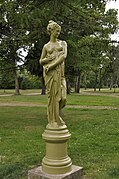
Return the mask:
{"type": "Polygon", "coordinates": [[[41,163],[45,125],[45,108],[0,107],[0,179],[24,178],[28,167],[41,163]]]}

